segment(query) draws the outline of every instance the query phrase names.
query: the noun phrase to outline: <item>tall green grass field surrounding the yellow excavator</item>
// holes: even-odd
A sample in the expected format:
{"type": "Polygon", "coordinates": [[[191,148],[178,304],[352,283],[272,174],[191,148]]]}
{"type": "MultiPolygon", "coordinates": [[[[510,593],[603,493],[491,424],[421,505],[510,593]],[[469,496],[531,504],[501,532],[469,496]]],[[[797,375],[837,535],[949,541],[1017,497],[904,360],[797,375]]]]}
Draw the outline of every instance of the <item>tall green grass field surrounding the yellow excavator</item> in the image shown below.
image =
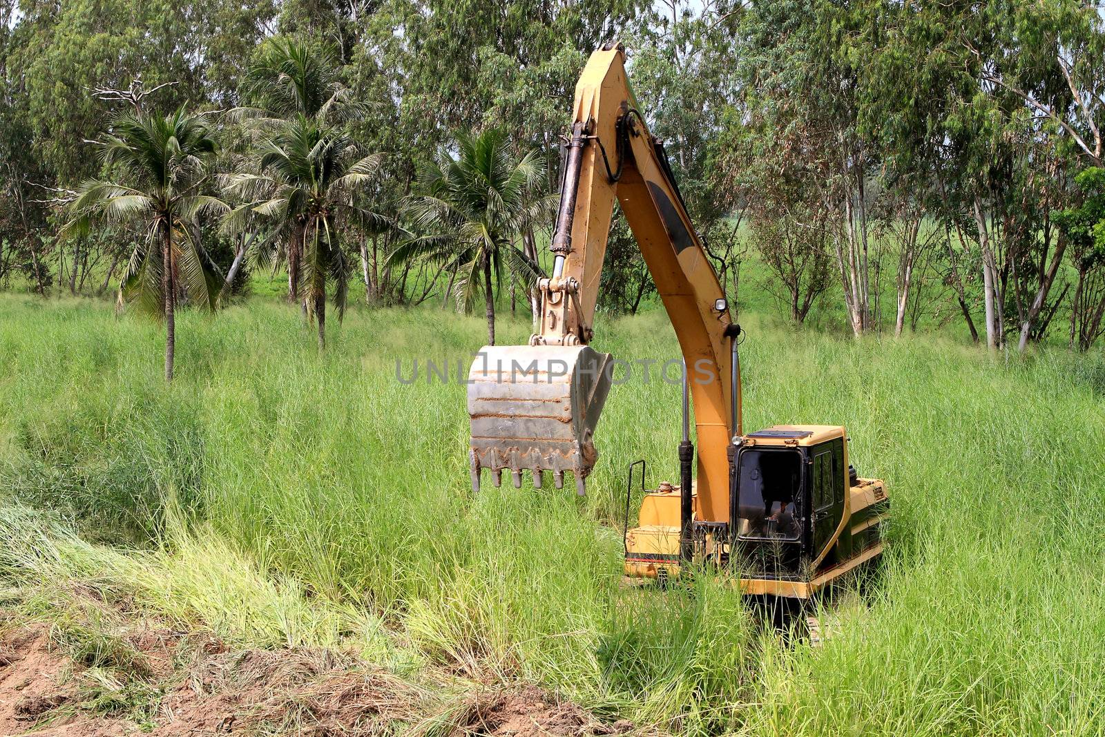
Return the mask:
{"type": "MultiPolygon", "coordinates": [[[[158,325],[0,298],[6,601],[82,580],[228,641],[533,681],[643,731],[1105,733],[1105,356],[741,322],[746,430],[846,424],[892,497],[880,572],[838,599],[823,647],[712,577],[619,586],[625,466],[676,478],[678,387],[613,390],[585,501],[473,494],[455,375],[481,319],[358,309],[319,355],[262,299],[183,314],[166,387],[158,325]],[[400,382],[415,359],[454,380],[400,382]]],[[[662,314],[597,333],[620,358],[677,356],[662,314]]]]}

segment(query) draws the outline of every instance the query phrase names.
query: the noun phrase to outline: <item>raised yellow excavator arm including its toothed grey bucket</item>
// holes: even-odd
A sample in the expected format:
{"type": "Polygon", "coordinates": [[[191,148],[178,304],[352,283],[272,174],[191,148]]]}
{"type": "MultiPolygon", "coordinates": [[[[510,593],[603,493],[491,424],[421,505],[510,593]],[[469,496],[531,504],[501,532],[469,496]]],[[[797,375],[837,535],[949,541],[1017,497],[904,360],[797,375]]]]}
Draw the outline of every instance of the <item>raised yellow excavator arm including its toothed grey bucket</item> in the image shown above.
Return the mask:
{"type": "MultiPolygon", "coordinates": [[[[683,352],[698,441],[698,516],[729,520],[732,439],[741,433],[733,320],[662,144],[649,134],[620,45],[591,55],[579,83],[550,244],[552,274],[540,280],[541,315],[528,346],[485,347],[472,365],[472,476],[488,468],[520,485],[565,472],[579,493],[597,460],[593,432],[613,361],[590,347],[607,236],[617,199],[652,274],[683,352]]],[[[684,446],[690,448],[684,429],[684,446]]],[[[682,450],[681,450],[682,455],[682,450]]],[[[690,461],[687,460],[687,467],[690,461]]],[[[684,476],[687,474],[685,473],[684,476]]],[[[690,497],[688,497],[690,498],[690,497]]]]}

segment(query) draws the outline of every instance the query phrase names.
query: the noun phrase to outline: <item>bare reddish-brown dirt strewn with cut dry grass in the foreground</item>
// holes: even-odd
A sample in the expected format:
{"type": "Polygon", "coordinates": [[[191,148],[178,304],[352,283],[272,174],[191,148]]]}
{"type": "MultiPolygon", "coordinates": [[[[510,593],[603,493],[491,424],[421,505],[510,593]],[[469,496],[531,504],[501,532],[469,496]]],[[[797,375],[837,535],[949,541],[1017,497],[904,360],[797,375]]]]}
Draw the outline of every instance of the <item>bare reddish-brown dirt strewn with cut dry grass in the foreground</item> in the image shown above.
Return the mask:
{"type": "Polygon", "coordinates": [[[228,651],[213,638],[146,629],[120,638],[127,667],[104,665],[42,624],[0,640],[0,735],[461,737],[617,735],[579,706],[536,688],[450,698],[328,650],[228,651]],[[181,664],[183,663],[183,664],[181,664]]]}

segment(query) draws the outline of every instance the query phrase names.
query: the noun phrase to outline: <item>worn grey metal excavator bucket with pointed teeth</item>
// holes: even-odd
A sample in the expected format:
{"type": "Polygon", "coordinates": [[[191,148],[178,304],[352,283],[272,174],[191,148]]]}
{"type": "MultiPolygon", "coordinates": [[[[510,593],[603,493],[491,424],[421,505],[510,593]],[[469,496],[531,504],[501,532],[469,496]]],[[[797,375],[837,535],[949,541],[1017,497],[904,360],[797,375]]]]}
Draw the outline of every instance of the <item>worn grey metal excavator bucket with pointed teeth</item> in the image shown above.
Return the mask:
{"type": "Polygon", "coordinates": [[[610,354],[589,346],[485,346],[469,371],[472,488],[481,470],[495,486],[508,471],[515,488],[529,470],[538,488],[549,472],[557,488],[565,472],[586,492],[598,451],[592,438],[610,391],[610,354]]]}

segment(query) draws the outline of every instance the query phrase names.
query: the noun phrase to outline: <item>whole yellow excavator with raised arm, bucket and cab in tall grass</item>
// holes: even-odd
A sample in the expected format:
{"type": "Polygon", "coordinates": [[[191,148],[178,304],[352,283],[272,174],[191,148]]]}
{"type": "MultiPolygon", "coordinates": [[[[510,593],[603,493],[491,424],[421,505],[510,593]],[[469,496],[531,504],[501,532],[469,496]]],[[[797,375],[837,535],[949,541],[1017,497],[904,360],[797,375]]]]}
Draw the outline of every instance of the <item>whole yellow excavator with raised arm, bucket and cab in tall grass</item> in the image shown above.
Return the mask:
{"type": "Polygon", "coordinates": [[[683,352],[680,484],[643,495],[628,528],[625,575],[664,581],[692,566],[730,571],[748,594],[808,599],[882,552],[890,502],[882,481],[849,465],[841,425],[779,424],[745,434],[740,326],[691,224],[662,143],[649,134],[620,44],[594,52],[576,86],[573,123],[550,243],[538,282],[538,331],[526,346],[486,346],[469,375],[472,485],[503,472],[540,487],[565,474],[583,494],[598,460],[593,433],[612,383],[591,348],[614,198],[629,221],[683,352]],[[690,429],[694,404],[695,449],[690,429]]]}

